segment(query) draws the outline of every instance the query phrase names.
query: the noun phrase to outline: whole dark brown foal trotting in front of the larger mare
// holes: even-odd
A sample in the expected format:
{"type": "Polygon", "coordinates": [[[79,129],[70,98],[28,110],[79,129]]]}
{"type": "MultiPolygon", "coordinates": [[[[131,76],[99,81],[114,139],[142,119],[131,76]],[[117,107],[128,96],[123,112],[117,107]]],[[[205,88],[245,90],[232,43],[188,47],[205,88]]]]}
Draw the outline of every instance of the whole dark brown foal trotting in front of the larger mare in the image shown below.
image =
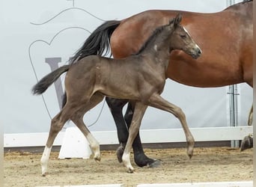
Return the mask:
{"type": "Polygon", "coordinates": [[[180,120],[188,142],[187,153],[189,157],[192,156],[195,141],[186,124],[183,111],[160,96],[165,86],[165,72],[169,64],[170,52],[180,49],[193,58],[201,55],[201,49],[180,25],[180,21],[179,14],[167,25],[156,28],[135,55],[120,60],[90,55],[76,63],[58,68],[34,85],[33,93],[41,94],[62,73],[67,72],[65,76],[67,102],[60,113],[52,119],[49,137],[41,158],[43,176],[46,175],[53,141],[67,120],[72,120],[78,126],[88,139],[94,152],[94,159],[100,161],[100,145],[85,126],[83,116],[101,102],[104,96],[129,99],[135,105],[127,145],[122,156],[128,172],[134,171],[129,155],[147,105],[168,111],[180,120]]]}

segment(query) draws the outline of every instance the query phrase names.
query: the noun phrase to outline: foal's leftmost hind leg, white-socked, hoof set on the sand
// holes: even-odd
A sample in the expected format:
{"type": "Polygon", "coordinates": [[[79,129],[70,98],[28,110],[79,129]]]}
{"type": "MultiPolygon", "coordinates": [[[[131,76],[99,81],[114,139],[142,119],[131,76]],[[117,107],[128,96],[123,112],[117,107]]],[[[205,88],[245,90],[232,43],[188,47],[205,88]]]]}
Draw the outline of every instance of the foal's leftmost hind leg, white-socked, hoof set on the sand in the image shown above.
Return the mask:
{"type": "Polygon", "coordinates": [[[58,132],[61,131],[64,123],[70,119],[70,114],[74,111],[75,108],[71,105],[65,105],[64,108],[52,119],[49,136],[46,142],[46,147],[43,150],[43,155],[41,157],[41,168],[42,168],[42,176],[46,176],[47,165],[49,162],[49,156],[52,150],[52,144],[58,135],[58,132]]]}

